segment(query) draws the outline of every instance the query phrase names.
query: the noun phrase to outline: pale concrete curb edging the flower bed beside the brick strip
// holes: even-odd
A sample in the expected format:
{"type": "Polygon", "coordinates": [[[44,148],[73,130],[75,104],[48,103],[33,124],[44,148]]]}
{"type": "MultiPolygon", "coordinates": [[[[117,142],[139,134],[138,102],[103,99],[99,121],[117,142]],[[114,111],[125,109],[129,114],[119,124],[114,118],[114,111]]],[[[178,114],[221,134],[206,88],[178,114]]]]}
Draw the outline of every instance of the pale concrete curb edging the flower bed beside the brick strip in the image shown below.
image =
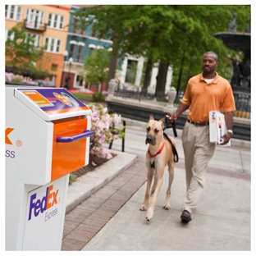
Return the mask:
{"type": "Polygon", "coordinates": [[[88,199],[91,194],[106,185],[122,171],[138,160],[138,156],[110,150],[116,157],[105,162],[93,172],[88,172],[69,185],[66,199],[66,214],[88,199]]]}

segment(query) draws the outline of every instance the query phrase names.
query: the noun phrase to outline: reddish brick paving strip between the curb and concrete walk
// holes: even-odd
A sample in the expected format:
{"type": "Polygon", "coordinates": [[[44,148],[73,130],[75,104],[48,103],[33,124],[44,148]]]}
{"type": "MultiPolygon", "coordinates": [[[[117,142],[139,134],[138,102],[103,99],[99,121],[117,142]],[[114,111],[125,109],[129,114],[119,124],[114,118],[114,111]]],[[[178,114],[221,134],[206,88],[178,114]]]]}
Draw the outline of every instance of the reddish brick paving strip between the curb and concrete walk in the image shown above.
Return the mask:
{"type": "Polygon", "coordinates": [[[71,213],[67,213],[62,250],[83,249],[145,181],[144,159],[138,159],[71,213]]]}

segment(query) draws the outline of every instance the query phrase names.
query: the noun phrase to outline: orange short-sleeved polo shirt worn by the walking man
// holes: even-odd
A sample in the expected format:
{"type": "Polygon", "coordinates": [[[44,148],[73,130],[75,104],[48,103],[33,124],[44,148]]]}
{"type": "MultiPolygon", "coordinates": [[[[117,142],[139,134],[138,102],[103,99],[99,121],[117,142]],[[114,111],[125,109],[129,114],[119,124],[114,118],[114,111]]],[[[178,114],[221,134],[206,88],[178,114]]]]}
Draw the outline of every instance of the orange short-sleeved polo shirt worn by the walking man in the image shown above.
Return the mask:
{"type": "Polygon", "coordinates": [[[235,111],[233,91],[228,80],[215,72],[209,84],[203,80],[203,72],[190,78],[181,103],[190,106],[191,121],[209,121],[209,111],[235,111]]]}

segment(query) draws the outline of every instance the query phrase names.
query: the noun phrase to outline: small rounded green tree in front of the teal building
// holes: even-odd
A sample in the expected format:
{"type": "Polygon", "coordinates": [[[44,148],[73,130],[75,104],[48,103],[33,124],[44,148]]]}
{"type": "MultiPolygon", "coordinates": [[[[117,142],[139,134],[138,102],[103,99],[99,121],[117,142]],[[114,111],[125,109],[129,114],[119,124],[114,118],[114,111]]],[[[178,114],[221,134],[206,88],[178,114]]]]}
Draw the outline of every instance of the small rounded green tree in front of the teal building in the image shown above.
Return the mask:
{"type": "Polygon", "coordinates": [[[86,81],[93,85],[103,85],[107,80],[110,53],[106,49],[97,49],[85,57],[86,81]]]}

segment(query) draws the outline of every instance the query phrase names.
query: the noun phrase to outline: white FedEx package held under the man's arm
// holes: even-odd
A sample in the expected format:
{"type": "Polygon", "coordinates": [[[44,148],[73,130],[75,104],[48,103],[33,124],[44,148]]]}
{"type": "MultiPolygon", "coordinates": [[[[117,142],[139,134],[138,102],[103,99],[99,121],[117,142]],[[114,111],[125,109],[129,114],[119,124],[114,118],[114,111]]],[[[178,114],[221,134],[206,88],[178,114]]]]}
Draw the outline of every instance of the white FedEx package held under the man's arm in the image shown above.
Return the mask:
{"type": "MultiPolygon", "coordinates": [[[[227,130],[224,114],[217,111],[209,112],[209,130],[210,142],[214,144],[222,144],[222,135],[224,135],[227,130]]],[[[231,139],[223,146],[231,146],[231,139]]]]}

